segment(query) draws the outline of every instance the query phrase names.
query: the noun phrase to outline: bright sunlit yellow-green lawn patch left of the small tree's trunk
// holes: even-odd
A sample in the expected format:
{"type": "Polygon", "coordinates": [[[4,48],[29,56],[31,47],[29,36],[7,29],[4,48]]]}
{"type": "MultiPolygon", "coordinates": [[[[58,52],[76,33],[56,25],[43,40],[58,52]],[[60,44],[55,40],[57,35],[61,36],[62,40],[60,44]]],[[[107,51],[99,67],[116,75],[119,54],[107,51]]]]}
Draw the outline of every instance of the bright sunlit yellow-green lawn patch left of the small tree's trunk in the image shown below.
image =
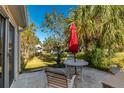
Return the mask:
{"type": "Polygon", "coordinates": [[[25,69],[27,70],[27,69],[42,68],[42,67],[47,67],[54,64],[56,64],[55,61],[48,62],[48,61],[41,60],[38,57],[33,57],[27,62],[25,69]]]}

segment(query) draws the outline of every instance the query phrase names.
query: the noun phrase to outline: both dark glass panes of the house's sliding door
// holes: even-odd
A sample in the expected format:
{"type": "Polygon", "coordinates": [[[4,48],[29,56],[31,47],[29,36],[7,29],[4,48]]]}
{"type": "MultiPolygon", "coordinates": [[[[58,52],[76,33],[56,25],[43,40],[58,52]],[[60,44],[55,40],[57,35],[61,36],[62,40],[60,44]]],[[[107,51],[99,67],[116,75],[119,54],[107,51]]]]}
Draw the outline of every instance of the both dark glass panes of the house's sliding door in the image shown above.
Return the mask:
{"type": "Polygon", "coordinates": [[[9,30],[7,31],[7,35],[5,35],[5,22],[6,19],[0,15],[0,88],[4,87],[4,81],[9,80],[9,86],[11,86],[14,80],[14,36],[15,36],[15,28],[9,23],[9,30]],[[5,46],[5,38],[8,39],[8,43],[5,46]],[[8,48],[8,52],[5,52],[5,48],[8,48]],[[6,55],[6,58],[5,58],[6,55]],[[6,59],[6,60],[5,60],[6,59]],[[5,62],[6,61],[6,62],[5,62]],[[7,63],[9,65],[6,66],[7,63]],[[5,75],[8,73],[9,75],[5,75]],[[8,77],[9,76],[9,77],[8,77]]]}

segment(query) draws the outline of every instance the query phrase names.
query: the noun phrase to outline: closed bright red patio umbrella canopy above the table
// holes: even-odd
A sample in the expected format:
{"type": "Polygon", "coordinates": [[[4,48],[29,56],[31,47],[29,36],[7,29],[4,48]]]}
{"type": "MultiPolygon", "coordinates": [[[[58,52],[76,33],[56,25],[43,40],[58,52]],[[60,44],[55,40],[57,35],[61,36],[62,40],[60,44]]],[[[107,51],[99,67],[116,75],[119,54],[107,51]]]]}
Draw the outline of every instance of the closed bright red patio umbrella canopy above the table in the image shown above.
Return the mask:
{"type": "Polygon", "coordinates": [[[70,26],[70,40],[69,40],[69,51],[73,54],[78,52],[78,40],[76,34],[76,26],[74,23],[70,26]]]}

